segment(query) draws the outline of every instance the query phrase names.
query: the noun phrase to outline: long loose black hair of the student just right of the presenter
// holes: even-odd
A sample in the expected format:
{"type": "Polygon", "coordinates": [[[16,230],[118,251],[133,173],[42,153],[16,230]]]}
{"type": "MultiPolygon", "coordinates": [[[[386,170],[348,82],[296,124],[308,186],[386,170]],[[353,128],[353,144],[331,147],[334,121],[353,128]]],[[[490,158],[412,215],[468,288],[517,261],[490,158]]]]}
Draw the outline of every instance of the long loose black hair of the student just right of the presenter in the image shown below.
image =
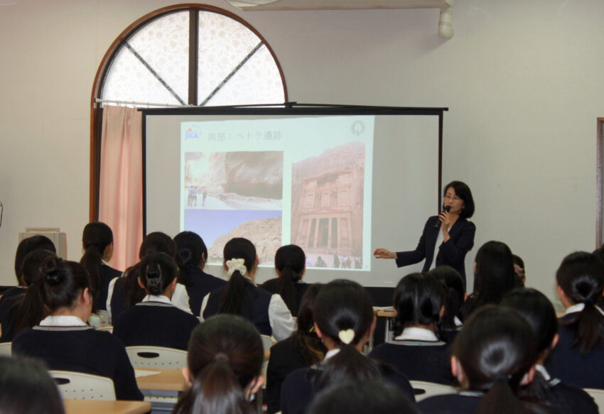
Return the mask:
{"type": "Polygon", "coordinates": [[[512,251],[501,241],[487,241],[476,254],[474,292],[466,301],[463,317],[467,318],[478,307],[500,303],[514,289],[514,263],[512,251]]]}

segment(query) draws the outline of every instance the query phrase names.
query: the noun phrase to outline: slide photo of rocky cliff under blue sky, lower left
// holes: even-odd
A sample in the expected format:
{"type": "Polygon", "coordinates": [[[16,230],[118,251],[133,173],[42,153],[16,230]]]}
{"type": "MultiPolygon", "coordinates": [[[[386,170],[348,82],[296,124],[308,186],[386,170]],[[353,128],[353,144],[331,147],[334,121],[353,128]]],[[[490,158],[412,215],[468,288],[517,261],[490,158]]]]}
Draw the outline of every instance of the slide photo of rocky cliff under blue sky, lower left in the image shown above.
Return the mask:
{"type": "Polygon", "coordinates": [[[207,263],[222,264],[222,249],[233,237],[254,243],[261,265],[274,266],[281,247],[281,210],[185,209],[185,230],[195,231],[207,246],[207,263]]]}

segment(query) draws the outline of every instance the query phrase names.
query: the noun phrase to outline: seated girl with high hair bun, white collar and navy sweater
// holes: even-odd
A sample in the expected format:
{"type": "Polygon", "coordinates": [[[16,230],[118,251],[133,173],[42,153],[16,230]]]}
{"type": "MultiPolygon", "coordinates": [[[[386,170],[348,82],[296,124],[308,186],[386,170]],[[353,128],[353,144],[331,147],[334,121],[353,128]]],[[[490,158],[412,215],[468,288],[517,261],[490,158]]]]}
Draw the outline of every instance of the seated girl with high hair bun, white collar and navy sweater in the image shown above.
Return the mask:
{"type": "Polygon", "coordinates": [[[106,376],[118,400],[142,400],[122,342],[84,322],[92,312],[92,294],[82,265],[49,257],[41,273],[38,289],[49,316],[16,334],[13,355],[42,359],[53,370],[106,376]]]}

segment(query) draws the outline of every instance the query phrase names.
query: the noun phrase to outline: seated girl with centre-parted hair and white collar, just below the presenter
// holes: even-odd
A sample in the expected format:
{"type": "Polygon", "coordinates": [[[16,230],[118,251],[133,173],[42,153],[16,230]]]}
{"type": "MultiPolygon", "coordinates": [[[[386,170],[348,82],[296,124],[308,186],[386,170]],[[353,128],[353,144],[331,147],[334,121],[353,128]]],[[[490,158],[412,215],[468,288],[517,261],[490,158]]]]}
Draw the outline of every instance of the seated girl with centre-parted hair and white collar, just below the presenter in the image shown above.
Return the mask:
{"type": "Polygon", "coordinates": [[[411,273],[394,290],[399,329],[369,356],[392,364],[409,379],[451,384],[448,344],[441,340],[443,286],[428,273],[411,273]]]}

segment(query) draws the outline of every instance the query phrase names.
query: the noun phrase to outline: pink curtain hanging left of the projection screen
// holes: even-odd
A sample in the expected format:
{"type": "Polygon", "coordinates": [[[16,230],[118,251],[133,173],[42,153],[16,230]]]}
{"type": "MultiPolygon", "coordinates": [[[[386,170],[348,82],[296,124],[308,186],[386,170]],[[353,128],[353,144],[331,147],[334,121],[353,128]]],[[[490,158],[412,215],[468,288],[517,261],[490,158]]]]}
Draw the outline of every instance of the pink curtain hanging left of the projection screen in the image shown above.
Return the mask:
{"type": "Polygon", "coordinates": [[[104,107],[99,221],[113,230],[111,266],[139,261],[143,240],[142,115],[136,108],[104,107]]]}

